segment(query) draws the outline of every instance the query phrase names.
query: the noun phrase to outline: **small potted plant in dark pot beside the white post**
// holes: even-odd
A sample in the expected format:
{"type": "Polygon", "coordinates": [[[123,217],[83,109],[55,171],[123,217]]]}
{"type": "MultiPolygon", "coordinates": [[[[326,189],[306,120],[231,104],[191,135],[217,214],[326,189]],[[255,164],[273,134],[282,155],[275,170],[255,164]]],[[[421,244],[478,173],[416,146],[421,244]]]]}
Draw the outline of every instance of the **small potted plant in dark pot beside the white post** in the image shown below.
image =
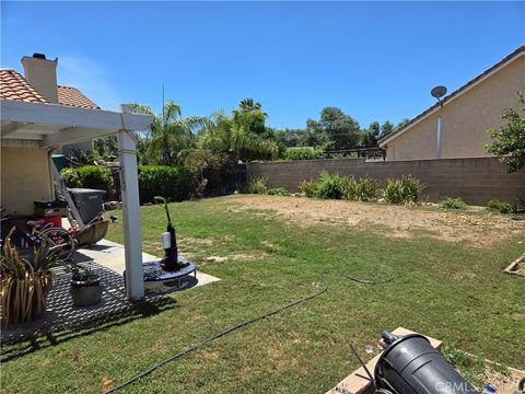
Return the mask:
{"type": "Polygon", "coordinates": [[[74,259],[71,264],[71,289],[69,293],[75,306],[95,305],[102,300],[104,287],[101,285],[101,277],[89,268],[80,266],[74,259]]]}

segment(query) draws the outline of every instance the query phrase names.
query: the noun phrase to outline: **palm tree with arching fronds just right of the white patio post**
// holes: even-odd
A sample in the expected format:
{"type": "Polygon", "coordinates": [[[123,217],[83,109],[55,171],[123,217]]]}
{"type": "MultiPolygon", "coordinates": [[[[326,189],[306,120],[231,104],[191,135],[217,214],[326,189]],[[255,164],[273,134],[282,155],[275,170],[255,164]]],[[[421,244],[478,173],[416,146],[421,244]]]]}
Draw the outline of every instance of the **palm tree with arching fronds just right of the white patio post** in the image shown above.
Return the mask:
{"type": "Polygon", "coordinates": [[[155,164],[175,165],[178,153],[195,146],[195,132],[209,123],[202,116],[183,118],[180,107],[173,101],[164,103],[161,114],[155,114],[148,105],[132,103],[129,107],[133,113],[153,117],[144,143],[149,161],[155,164]]]}

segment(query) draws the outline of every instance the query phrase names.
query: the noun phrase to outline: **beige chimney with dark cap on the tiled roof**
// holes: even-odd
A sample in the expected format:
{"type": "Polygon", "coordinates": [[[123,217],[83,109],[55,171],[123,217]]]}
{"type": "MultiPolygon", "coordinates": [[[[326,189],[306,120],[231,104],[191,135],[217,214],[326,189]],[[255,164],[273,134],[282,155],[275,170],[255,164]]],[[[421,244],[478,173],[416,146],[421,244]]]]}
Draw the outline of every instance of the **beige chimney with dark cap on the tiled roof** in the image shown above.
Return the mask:
{"type": "Polygon", "coordinates": [[[24,66],[24,73],[27,82],[49,100],[50,103],[58,104],[58,58],[55,60],[48,60],[46,59],[46,55],[33,54],[32,57],[24,56],[22,58],[22,65],[24,66]]]}

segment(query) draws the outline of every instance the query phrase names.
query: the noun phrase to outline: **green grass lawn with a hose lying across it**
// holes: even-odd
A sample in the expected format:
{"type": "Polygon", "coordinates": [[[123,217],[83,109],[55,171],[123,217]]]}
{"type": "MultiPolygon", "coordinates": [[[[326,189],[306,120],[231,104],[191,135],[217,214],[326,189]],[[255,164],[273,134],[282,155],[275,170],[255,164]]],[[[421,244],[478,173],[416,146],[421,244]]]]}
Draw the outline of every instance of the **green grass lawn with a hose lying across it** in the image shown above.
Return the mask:
{"type": "MultiPolygon", "coordinates": [[[[327,293],[220,338],[122,392],[324,393],[358,367],[350,341],[364,350],[397,326],[525,368],[525,281],[502,274],[524,252],[523,234],[479,248],[425,232],[394,239],[376,227],[294,225],[271,212],[228,209],[234,205],[235,197],[171,205],[179,251],[221,281],[173,293],[160,311],[101,329],[4,347],[4,355],[21,356],[2,362],[2,392],[100,393],[229,325],[318,290],[326,269],[396,277],[366,286],[330,276],[327,293]]],[[[142,207],[141,217],[144,248],[159,254],[164,213],[142,207]]],[[[108,237],[121,242],[120,224],[108,237]]]]}

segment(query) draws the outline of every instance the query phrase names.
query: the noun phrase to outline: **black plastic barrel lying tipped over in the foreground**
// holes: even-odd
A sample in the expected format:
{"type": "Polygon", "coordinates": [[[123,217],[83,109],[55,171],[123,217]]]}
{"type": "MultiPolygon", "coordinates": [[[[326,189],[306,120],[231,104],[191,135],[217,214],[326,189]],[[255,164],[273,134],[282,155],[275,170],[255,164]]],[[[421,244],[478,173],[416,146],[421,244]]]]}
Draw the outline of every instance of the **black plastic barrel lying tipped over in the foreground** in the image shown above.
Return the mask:
{"type": "Polygon", "coordinates": [[[375,366],[377,387],[396,394],[479,394],[424,336],[383,337],[393,341],[375,366]]]}

